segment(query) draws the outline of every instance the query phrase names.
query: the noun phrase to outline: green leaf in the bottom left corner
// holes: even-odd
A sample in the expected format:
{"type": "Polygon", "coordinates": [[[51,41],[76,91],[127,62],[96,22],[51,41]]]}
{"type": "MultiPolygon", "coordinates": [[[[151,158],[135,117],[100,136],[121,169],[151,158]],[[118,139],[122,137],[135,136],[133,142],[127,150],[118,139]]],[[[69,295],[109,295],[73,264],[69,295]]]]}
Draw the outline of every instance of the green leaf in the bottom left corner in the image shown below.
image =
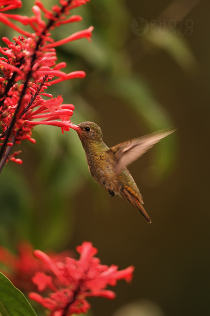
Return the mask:
{"type": "Polygon", "coordinates": [[[36,316],[35,311],[14,285],[0,272],[0,315],[36,316]]]}

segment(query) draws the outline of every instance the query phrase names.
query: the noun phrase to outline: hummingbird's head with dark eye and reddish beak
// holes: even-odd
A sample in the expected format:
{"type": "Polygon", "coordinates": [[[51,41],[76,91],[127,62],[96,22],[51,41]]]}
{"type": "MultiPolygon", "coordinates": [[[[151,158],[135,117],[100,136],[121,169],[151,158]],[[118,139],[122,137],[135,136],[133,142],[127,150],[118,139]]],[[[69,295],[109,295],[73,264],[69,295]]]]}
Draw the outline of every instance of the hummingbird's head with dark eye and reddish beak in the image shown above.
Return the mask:
{"type": "Polygon", "coordinates": [[[83,122],[78,125],[71,125],[71,128],[75,129],[79,135],[81,142],[84,144],[88,141],[102,141],[102,130],[93,122],[83,122]]]}

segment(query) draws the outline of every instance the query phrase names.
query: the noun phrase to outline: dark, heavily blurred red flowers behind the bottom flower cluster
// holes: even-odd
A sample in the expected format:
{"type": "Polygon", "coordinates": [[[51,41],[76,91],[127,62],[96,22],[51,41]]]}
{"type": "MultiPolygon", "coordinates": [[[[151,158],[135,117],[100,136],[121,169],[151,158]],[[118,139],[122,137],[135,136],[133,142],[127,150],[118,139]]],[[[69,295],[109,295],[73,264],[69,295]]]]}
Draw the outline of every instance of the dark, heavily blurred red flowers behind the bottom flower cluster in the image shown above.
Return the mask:
{"type": "MultiPolygon", "coordinates": [[[[50,274],[50,268],[33,256],[33,247],[28,242],[18,245],[18,255],[14,255],[4,247],[0,246],[0,271],[21,291],[36,291],[36,286],[31,278],[37,271],[50,274]],[[3,268],[5,266],[5,268],[3,268]]],[[[53,262],[63,261],[65,257],[75,257],[73,251],[65,250],[60,253],[48,252],[53,262]]],[[[53,273],[51,273],[53,276],[53,273]]]]}

